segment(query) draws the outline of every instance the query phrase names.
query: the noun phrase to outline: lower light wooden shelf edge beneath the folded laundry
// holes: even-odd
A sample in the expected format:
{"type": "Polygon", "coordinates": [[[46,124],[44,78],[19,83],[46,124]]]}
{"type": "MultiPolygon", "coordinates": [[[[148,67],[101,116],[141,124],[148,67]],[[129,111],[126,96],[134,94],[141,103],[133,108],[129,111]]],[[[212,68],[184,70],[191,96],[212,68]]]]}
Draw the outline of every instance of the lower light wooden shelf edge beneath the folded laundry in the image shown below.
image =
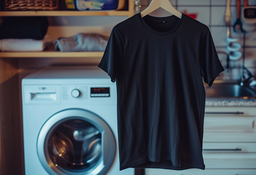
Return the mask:
{"type": "Polygon", "coordinates": [[[0,52],[0,58],[102,57],[104,52],[0,52]]]}

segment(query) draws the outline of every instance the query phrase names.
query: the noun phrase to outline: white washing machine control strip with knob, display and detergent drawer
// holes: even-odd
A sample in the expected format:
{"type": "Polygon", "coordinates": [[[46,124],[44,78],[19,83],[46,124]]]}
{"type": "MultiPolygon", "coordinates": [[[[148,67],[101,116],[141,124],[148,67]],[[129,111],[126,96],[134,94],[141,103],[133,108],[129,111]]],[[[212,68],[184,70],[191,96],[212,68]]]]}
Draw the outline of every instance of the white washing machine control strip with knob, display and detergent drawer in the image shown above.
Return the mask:
{"type": "Polygon", "coordinates": [[[24,85],[25,104],[116,104],[116,85],[24,85]]]}

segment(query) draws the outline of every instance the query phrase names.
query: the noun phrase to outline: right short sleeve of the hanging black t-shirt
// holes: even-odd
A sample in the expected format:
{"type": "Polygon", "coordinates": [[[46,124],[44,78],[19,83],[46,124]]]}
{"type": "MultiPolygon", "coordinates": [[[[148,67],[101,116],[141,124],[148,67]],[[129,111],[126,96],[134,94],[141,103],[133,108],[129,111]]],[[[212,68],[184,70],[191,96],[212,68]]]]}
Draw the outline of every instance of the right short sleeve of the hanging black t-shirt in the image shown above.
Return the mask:
{"type": "Polygon", "coordinates": [[[224,71],[209,29],[200,43],[199,64],[201,68],[201,75],[204,77],[204,82],[207,83],[209,87],[212,85],[219,73],[224,71]]]}

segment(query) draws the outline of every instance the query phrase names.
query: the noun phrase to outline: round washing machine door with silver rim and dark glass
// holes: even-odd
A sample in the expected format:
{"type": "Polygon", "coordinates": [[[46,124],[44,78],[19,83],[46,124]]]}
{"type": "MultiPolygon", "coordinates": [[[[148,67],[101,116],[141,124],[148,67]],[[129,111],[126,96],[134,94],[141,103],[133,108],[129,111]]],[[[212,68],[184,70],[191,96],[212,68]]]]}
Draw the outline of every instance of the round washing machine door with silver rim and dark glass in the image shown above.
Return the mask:
{"type": "Polygon", "coordinates": [[[83,109],[68,109],[42,126],[37,152],[50,175],[103,175],[114,161],[116,141],[101,117],[83,109]]]}

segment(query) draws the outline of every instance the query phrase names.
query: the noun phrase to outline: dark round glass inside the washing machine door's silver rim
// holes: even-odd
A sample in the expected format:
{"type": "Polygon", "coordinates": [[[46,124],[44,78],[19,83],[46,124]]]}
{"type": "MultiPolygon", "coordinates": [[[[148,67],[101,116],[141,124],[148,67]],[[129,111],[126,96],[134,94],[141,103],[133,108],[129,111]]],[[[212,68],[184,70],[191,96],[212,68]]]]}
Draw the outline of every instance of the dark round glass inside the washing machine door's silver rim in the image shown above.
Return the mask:
{"type": "Polygon", "coordinates": [[[101,160],[101,150],[100,130],[81,119],[61,123],[48,141],[52,162],[67,170],[90,170],[101,160]]]}

